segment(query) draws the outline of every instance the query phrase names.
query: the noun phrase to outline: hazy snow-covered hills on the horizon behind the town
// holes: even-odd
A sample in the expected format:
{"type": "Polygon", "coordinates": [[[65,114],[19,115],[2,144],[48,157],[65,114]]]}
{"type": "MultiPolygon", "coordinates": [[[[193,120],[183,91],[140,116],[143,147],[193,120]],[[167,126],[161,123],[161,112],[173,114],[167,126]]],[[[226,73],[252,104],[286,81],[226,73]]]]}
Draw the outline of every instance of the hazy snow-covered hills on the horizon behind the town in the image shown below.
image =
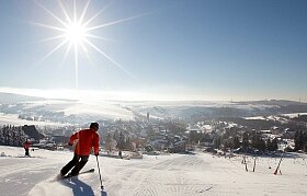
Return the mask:
{"type": "Polygon", "coordinates": [[[24,96],[0,92],[0,125],[11,122],[23,124],[86,124],[102,119],[130,120],[145,118],[191,117],[253,117],[289,113],[307,113],[307,103],[291,101],[207,102],[207,101],[120,101],[100,97],[58,100],[24,96]],[[11,115],[11,116],[9,116],[11,115]],[[18,119],[18,117],[20,117],[18,119]],[[3,120],[2,120],[3,119],[3,120]],[[34,119],[34,120],[32,120],[34,119]]]}

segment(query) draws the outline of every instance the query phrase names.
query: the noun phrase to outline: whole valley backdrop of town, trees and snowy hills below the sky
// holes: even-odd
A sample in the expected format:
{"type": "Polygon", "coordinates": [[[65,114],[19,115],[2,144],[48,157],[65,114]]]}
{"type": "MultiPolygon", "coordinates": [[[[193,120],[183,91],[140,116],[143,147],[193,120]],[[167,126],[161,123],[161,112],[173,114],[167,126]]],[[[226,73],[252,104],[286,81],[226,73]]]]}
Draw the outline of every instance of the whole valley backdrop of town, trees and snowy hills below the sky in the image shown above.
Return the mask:
{"type": "Polygon", "coordinates": [[[306,112],[285,100],[96,104],[0,93],[0,145],[65,150],[72,132],[98,122],[104,154],[307,152],[306,112]]]}

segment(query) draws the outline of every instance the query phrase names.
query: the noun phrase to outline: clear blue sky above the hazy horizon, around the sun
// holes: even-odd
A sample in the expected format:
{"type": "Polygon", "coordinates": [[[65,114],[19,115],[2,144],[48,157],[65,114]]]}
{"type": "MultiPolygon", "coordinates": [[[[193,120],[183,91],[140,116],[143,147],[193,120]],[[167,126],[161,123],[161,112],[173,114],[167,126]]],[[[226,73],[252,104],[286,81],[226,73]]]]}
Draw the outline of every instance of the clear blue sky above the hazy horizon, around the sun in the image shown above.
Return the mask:
{"type": "MultiPolygon", "coordinates": [[[[87,1],[76,4],[81,15],[87,1]]],[[[65,21],[57,1],[0,2],[0,88],[307,102],[307,1],[92,0],[84,21],[103,11],[91,26],[124,21],[90,32],[113,61],[88,46],[78,72],[68,44],[43,59],[61,39],[42,41],[60,32],[37,23],[62,27],[44,8],[65,21]]]]}

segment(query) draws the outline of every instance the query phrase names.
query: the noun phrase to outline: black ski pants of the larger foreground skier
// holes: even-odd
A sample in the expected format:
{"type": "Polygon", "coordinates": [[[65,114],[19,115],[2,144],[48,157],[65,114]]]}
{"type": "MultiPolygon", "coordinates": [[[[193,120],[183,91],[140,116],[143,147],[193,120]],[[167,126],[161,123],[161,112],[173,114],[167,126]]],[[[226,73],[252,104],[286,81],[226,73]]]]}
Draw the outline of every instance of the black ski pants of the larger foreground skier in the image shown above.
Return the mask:
{"type": "Polygon", "coordinates": [[[61,175],[66,175],[71,169],[71,175],[78,175],[80,170],[87,164],[89,160],[89,155],[79,155],[77,153],[73,154],[71,161],[69,161],[61,170],[61,175]]]}

